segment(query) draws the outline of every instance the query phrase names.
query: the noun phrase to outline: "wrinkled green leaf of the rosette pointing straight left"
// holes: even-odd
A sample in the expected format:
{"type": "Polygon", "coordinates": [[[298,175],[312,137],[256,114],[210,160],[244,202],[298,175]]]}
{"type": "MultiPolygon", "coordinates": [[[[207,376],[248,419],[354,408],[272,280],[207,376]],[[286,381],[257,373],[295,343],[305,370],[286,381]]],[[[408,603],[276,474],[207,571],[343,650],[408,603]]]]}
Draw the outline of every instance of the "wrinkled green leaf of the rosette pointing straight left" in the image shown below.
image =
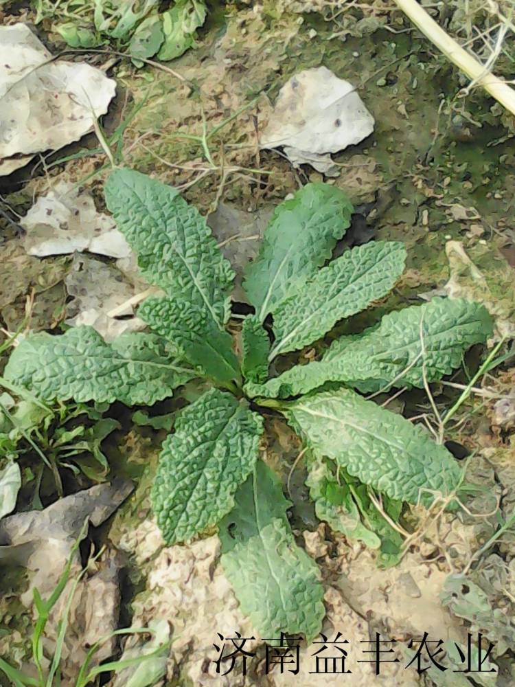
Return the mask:
{"type": "Polygon", "coordinates": [[[106,343],[89,326],[21,339],[3,374],[47,401],[126,405],[152,405],[196,376],[157,335],[123,334],[106,343]]]}

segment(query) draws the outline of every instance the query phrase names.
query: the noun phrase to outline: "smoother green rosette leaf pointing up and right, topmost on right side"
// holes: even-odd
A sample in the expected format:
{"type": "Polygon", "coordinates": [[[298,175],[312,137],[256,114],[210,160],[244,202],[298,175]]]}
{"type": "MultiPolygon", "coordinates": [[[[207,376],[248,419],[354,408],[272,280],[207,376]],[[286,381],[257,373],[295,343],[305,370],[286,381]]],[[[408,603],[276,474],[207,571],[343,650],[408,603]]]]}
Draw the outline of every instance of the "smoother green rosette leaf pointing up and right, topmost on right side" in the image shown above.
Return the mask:
{"type": "Polygon", "coordinates": [[[330,258],[352,210],[347,195],[325,183],[308,183],[276,207],[243,284],[260,322],[330,258]]]}

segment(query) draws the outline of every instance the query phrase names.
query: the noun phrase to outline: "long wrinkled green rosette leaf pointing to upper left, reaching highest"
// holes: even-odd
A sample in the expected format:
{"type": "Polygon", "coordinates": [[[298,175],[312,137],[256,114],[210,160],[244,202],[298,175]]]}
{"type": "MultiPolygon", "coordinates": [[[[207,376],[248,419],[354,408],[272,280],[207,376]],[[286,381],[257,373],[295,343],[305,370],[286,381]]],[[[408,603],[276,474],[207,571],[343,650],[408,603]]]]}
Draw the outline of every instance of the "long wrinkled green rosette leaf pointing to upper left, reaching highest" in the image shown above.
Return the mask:
{"type": "Polygon", "coordinates": [[[205,313],[221,330],[234,273],[196,207],[171,186],[133,170],[111,172],[105,194],[146,280],[205,313]]]}

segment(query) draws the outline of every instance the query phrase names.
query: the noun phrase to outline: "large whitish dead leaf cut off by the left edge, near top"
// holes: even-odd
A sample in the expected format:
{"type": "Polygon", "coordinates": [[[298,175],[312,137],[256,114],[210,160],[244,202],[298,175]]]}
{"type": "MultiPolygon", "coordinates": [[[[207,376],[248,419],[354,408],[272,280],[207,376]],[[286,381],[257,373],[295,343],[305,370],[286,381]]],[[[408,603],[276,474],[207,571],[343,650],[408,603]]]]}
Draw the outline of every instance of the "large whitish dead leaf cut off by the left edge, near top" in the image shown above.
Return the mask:
{"type": "Polygon", "coordinates": [[[80,139],[115,95],[113,79],[85,63],[52,60],[23,23],[0,27],[0,64],[0,176],[80,139]]]}

